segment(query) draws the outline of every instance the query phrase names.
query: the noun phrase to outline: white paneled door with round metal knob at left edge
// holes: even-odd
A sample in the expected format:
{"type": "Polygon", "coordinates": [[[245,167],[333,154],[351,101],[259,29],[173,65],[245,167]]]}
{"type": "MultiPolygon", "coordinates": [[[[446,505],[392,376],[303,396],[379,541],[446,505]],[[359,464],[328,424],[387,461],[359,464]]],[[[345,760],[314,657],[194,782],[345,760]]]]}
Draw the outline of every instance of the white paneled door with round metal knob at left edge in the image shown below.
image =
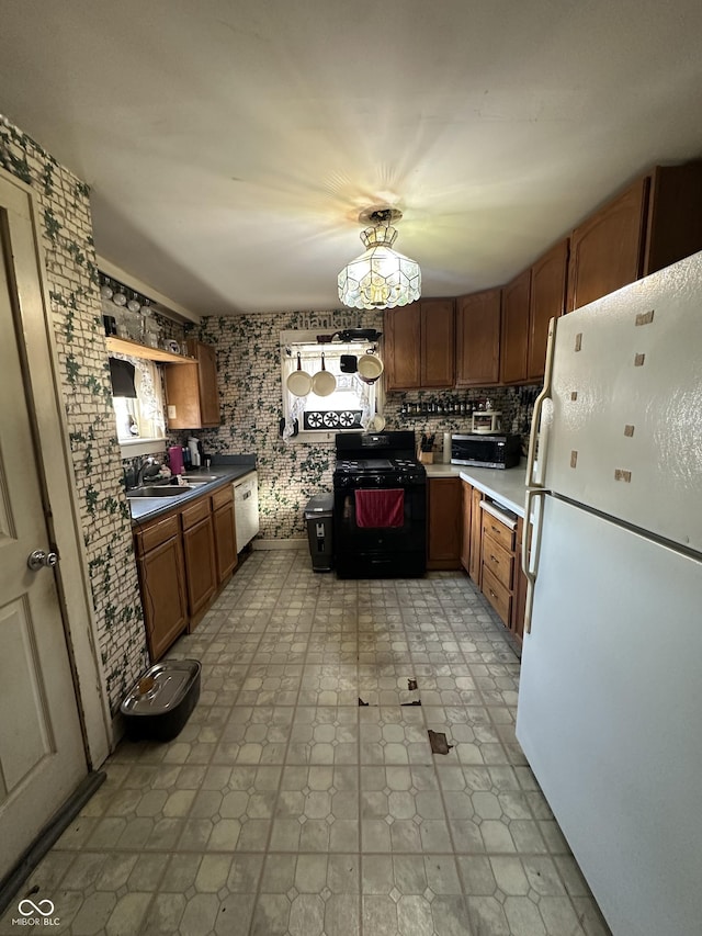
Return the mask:
{"type": "Polygon", "coordinates": [[[54,572],[27,567],[50,543],[15,315],[22,202],[0,187],[0,877],[88,773],[54,572]]]}

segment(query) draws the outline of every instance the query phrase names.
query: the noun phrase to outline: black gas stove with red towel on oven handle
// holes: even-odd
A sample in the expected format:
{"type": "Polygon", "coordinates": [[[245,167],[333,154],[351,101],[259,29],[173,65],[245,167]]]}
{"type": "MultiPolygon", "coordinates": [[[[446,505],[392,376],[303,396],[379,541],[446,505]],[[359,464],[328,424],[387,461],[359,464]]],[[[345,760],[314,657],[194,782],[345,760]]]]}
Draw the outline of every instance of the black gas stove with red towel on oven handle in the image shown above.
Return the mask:
{"type": "Polygon", "coordinates": [[[415,433],[336,437],[336,567],[341,578],[405,577],[427,568],[427,471],[415,433]]]}

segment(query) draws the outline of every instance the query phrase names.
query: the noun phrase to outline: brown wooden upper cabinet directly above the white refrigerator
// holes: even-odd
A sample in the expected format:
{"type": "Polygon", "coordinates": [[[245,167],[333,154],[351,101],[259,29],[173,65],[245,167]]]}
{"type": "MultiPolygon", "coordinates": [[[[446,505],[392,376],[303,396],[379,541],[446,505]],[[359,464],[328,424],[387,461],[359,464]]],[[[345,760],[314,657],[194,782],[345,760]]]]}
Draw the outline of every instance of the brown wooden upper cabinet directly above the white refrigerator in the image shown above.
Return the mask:
{"type": "Polygon", "coordinates": [[[702,249],[702,161],[656,166],[570,238],[573,312],[702,249]]]}

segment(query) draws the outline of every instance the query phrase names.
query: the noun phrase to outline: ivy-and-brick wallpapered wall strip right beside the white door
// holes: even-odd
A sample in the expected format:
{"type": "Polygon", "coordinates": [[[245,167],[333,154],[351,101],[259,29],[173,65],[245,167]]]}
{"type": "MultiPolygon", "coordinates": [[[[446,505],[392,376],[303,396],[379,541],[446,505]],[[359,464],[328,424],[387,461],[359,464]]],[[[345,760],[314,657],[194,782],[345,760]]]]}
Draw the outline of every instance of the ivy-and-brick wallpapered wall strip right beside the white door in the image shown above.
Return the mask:
{"type": "Polygon", "coordinates": [[[37,200],[98,647],[114,712],[147,654],[111,404],[90,191],[2,121],[0,166],[30,185],[37,200]]]}

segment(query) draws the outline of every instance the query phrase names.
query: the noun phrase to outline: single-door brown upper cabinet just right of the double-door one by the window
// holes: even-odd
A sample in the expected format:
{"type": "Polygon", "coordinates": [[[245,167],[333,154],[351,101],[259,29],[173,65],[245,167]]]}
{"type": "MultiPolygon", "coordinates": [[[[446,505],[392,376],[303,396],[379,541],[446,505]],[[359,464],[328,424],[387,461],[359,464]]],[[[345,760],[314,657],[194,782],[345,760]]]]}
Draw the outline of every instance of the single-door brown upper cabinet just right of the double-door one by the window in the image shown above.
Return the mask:
{"type": "Polygon", "coordinates": [[[501,290],[456,300],[456,386],[490,386],[500,380],[501,290]]]}

